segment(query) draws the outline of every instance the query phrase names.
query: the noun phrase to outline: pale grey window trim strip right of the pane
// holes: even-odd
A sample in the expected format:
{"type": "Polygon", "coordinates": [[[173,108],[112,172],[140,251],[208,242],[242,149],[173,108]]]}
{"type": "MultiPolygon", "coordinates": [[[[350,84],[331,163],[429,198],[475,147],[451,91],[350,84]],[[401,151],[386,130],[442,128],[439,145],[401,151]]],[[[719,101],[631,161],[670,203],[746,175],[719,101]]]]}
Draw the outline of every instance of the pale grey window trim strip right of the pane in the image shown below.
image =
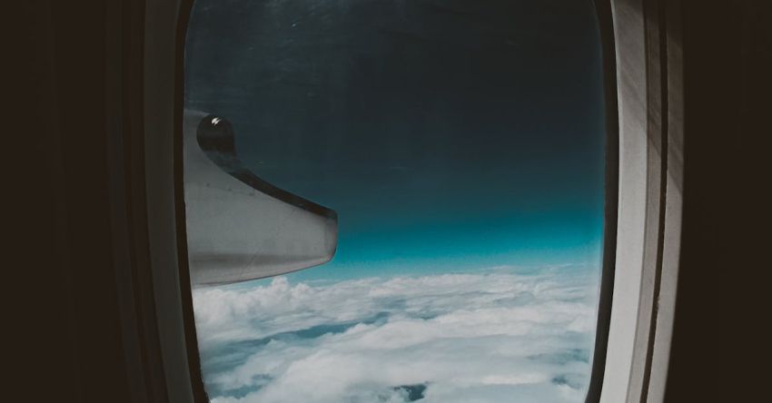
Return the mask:
{"type": "Polygon", "coordinates": [[[683,102],[679,2],[663,3],[611,1],[619,103],[619,216],[602,403],[661,402],[665,395],[678,280],[683,102]],[[653,5],[666,9],[652,13],[653,5]],[[667,21],[660,21],[662,16],[667,21]],[[667,36],[660,40],[660,34],[667,36]],[[667,74],[660,71],[661,60],[667,74]],[[668,133],[664,144],[663,130],[668,133]]]}

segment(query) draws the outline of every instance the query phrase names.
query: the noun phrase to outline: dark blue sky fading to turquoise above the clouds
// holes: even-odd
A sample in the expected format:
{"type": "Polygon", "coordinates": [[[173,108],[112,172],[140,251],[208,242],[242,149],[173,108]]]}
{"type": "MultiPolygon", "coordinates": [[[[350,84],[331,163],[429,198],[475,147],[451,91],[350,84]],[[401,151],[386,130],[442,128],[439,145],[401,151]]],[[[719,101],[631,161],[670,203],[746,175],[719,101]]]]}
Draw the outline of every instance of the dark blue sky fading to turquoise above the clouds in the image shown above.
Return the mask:
{"type": "Polygon", "coordinates": [[[589,0],[197,0],[186,105],[268,182],[338,211],[303,278],[599,261],[589,0]]]}

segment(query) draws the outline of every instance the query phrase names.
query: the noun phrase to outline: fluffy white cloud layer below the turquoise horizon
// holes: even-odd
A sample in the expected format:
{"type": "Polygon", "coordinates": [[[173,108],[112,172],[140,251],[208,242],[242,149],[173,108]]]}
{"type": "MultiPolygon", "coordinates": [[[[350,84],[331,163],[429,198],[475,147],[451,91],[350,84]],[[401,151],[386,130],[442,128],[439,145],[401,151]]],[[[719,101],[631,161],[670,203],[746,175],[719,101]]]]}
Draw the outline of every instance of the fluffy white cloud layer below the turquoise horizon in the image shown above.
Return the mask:
{"type": "Polygon", "coordinates": [[[577,402],[589,271],[454,274],[193,293],[216,403],[577,402]]]}

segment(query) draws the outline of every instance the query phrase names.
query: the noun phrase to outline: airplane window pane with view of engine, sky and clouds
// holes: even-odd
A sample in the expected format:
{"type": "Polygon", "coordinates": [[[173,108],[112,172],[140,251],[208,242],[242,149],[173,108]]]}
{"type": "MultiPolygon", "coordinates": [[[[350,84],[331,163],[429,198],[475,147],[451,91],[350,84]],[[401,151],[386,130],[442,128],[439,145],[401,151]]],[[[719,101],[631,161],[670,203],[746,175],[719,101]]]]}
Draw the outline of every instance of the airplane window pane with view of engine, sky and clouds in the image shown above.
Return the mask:
{"type": "Polygon", "coordinates": [[[589,0],[196,0],[185,57],[213,401],[583,401],[606,135],[589,0]]]}

